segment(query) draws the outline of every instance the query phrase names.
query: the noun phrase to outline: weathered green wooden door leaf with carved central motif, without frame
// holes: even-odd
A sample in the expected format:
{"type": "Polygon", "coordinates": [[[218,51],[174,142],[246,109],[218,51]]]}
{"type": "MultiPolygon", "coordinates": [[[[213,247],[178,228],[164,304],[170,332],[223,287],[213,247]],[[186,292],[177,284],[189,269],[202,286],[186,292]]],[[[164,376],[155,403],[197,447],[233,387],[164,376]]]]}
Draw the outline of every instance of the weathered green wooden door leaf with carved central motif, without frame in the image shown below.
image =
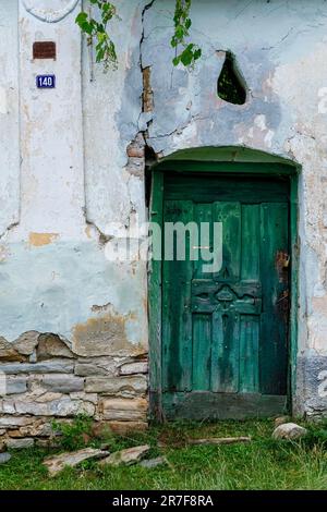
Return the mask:
{"type": "MultiPolygon", "coordinates": [[[[281,413],[288,388],[288,181],[168,173],[164,191],[165,225],[222,223],[218,271],[208,273],[195,259],[201,245],[189,232],[185,260],[178,260],[175,241],[171,259],[162,261],[166,416],[281,413]]],[[[213,249],[210,231],[204,254],[213,249]]]]}

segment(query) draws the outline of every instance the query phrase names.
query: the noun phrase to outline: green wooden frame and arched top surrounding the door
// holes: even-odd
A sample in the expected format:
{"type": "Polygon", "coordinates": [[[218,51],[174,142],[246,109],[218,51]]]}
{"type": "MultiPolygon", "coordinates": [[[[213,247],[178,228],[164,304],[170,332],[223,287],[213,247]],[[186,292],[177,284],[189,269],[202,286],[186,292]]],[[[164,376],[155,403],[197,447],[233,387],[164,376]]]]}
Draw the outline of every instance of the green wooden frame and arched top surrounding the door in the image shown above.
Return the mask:
{"type": "MultiPolygon", "coordinates": [[[[289,377],[288,409],[292,411],[292,398],[296,387],[298,354],[298,282],[300,246],[298,236],[298,181],[300,166],[264,151],[244,147],[225,146],[220,148],[204,147],[177,151],[162,159],[152,168],[152,198],[149,220],[160,225],[164,223],[164,176],[165,172],[195,172],[196,174],[216,173],[244,175],[289,176],[290,180],[290,247],[291,247],[291,308],[289,318],[289,377]]],[[[158,231],[153,232],[153,243],[158,241],[158,231]]],[[[161,297],[162,297],[161,261],[150,260],[148,268],[148,324],[149,324],[149,412],[150,418],[162,422],[165,415],[161,406],[161,297]]]]}

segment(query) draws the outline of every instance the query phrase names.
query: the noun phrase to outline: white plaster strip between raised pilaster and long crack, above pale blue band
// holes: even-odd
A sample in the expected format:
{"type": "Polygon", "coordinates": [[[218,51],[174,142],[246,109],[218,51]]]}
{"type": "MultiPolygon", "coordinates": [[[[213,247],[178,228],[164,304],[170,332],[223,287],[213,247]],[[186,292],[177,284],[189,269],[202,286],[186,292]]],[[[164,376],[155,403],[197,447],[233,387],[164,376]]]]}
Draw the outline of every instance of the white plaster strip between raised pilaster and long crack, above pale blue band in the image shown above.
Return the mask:
{"type": "Polygon", "coordinates": [[[131,175],[126,147],[138,132],[142,112],[140,42],[146,1],[117,2],[121,22],[112,24],[118,70],[104,74],[84,47],[83,103],[87,220],[106,233],[108,221],[129,224],[131,210],[145,219],[144,183],[131,175]]]}

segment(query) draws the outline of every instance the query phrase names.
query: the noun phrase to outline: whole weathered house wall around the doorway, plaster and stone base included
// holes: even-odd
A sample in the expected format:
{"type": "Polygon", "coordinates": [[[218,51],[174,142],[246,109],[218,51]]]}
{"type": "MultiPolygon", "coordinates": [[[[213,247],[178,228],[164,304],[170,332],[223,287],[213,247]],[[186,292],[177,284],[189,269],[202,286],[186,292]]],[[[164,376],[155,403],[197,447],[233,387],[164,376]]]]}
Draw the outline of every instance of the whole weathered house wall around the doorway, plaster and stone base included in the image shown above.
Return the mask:
{"type": "Polygon", "coordinates": [[[145,424],[146,265],[105,257],[112,222],[147,215],[144,137],[158,158],[245,145],[302,166],[294,411],[326,415],[326,2],[194,0],[190,72],[171,63],[173,0],[116,3],[119,65],[104,74],[74,24],[81,1],[0,2],[0,436],[43,436],[48,416],[81,411],[145,424]],[[57,60],[33,61],[35,40],[56,40],[57,60]],[[217,95],[227,50],[243,106],[217,95]],[[55,90],[35,87],[43,73],[55,90]]]}

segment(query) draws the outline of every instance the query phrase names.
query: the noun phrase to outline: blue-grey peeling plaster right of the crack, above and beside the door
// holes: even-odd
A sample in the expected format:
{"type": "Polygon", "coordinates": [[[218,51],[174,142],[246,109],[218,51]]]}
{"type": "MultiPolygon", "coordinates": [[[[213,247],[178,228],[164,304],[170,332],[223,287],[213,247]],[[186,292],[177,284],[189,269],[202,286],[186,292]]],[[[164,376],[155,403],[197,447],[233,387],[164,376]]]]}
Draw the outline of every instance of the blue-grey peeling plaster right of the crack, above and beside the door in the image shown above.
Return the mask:
{"type": "Polygon", "coordinates": [[[167,156],[199,146],[244,145],[302,166],[299,183],[299,377],[295,411],[327,413],[327,10],[323,0],[193,1],[195,69],[173,69],[173,0],[144,17],[142,66],[150,68],[154,110],[147,143],[167,156]],[[247,84],[243,106],[217,95],[225,52],[247,84]],[[326,377],[326,376],[325,376],[326,377]]]}

